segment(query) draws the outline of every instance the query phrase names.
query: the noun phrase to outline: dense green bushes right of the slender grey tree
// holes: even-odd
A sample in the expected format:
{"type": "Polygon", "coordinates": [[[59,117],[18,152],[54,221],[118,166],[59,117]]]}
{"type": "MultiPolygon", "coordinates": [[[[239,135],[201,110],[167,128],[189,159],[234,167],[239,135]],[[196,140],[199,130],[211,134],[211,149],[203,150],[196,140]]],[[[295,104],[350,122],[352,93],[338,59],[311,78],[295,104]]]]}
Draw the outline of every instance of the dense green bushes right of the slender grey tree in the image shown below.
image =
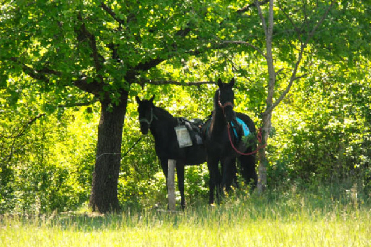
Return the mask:
{"type": "Polygon", "coordinates": [[[364,61],[350,73],[339,66],[313,63],[310,76],[279,109],[272,179],[314,184],[350,179],[370,191],[370,108],[365,101],[370,99],[370,71],[364,70],[364,61]],[[280,140],[286,142],[279,148],[280,140]]]}

